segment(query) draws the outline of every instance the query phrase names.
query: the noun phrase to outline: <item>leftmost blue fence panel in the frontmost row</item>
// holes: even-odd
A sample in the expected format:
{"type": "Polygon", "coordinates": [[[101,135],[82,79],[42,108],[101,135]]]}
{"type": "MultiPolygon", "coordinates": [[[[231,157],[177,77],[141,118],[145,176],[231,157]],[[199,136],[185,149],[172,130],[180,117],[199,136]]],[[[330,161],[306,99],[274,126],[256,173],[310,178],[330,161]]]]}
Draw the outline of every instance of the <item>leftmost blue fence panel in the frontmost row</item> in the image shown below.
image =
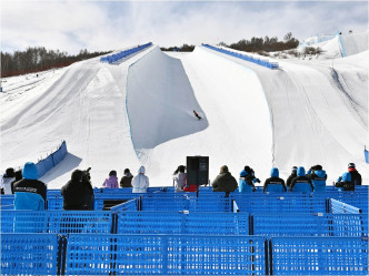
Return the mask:
{"type": "Polygon", "coordinates": [[[1,275],[57,275],[56,234],[1,233],[1,275]]]}

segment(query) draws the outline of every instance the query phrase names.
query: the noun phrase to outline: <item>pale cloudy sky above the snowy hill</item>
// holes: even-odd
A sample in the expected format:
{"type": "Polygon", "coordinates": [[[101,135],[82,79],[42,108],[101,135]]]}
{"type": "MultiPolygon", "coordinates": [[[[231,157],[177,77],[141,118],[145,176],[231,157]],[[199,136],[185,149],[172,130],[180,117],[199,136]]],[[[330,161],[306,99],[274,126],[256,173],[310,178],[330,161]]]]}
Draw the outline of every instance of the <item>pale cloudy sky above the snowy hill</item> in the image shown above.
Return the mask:
{"type": "Polygon", "coordinates": [[[368,30],[365,1],[1,0],[1,51],[42,45],[68,53],[152,41],[161,47],[238,42],[287,32],[368,30]]]}

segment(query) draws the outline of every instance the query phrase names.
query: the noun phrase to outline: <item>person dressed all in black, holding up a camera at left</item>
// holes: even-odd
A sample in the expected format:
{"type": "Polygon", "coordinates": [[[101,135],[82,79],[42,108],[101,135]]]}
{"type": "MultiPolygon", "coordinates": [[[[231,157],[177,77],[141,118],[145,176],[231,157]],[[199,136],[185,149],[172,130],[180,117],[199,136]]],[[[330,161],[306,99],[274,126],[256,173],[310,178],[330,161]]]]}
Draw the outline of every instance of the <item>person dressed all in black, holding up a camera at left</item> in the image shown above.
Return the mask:
{"type": "Polygon", "coordinates": [[[91,209],[92,208],[92,187],[86,182],[84,172],[74,170],[71,180],[61,187],[63,197],[63,209],[91,209]]]}

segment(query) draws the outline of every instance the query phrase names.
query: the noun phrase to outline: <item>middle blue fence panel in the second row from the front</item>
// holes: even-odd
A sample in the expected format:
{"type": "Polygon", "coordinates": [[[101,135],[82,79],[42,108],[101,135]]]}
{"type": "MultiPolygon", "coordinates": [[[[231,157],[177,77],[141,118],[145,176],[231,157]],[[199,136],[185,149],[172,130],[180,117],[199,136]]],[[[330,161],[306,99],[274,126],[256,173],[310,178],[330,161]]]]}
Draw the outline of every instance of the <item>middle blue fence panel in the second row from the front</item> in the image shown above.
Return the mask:
{"type": "Polygon", "coordinates": [[[248,235],[249,215],[208,212],[119,212],[117,233],[248,235]]]}

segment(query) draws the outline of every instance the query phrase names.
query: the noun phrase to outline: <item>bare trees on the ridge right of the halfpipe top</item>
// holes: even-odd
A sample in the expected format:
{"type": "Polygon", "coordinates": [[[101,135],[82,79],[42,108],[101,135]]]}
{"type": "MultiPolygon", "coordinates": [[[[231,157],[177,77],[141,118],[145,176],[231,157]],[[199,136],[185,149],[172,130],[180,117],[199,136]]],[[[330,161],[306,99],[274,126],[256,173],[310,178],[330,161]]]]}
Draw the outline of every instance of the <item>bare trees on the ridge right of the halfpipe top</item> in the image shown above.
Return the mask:
{"type": "Polygon", "coordinates": [[[279,41],[277,37],[269,38],[267,35],[265,38],[252,37],[251,40],[242,39],[230,45],[220,42],[220,45],[245,52],[277,52],[295,49],[299,45],[299,41],[292,37],[291,32],[288,32],[285,34],[283,41],[279,41]]]}

